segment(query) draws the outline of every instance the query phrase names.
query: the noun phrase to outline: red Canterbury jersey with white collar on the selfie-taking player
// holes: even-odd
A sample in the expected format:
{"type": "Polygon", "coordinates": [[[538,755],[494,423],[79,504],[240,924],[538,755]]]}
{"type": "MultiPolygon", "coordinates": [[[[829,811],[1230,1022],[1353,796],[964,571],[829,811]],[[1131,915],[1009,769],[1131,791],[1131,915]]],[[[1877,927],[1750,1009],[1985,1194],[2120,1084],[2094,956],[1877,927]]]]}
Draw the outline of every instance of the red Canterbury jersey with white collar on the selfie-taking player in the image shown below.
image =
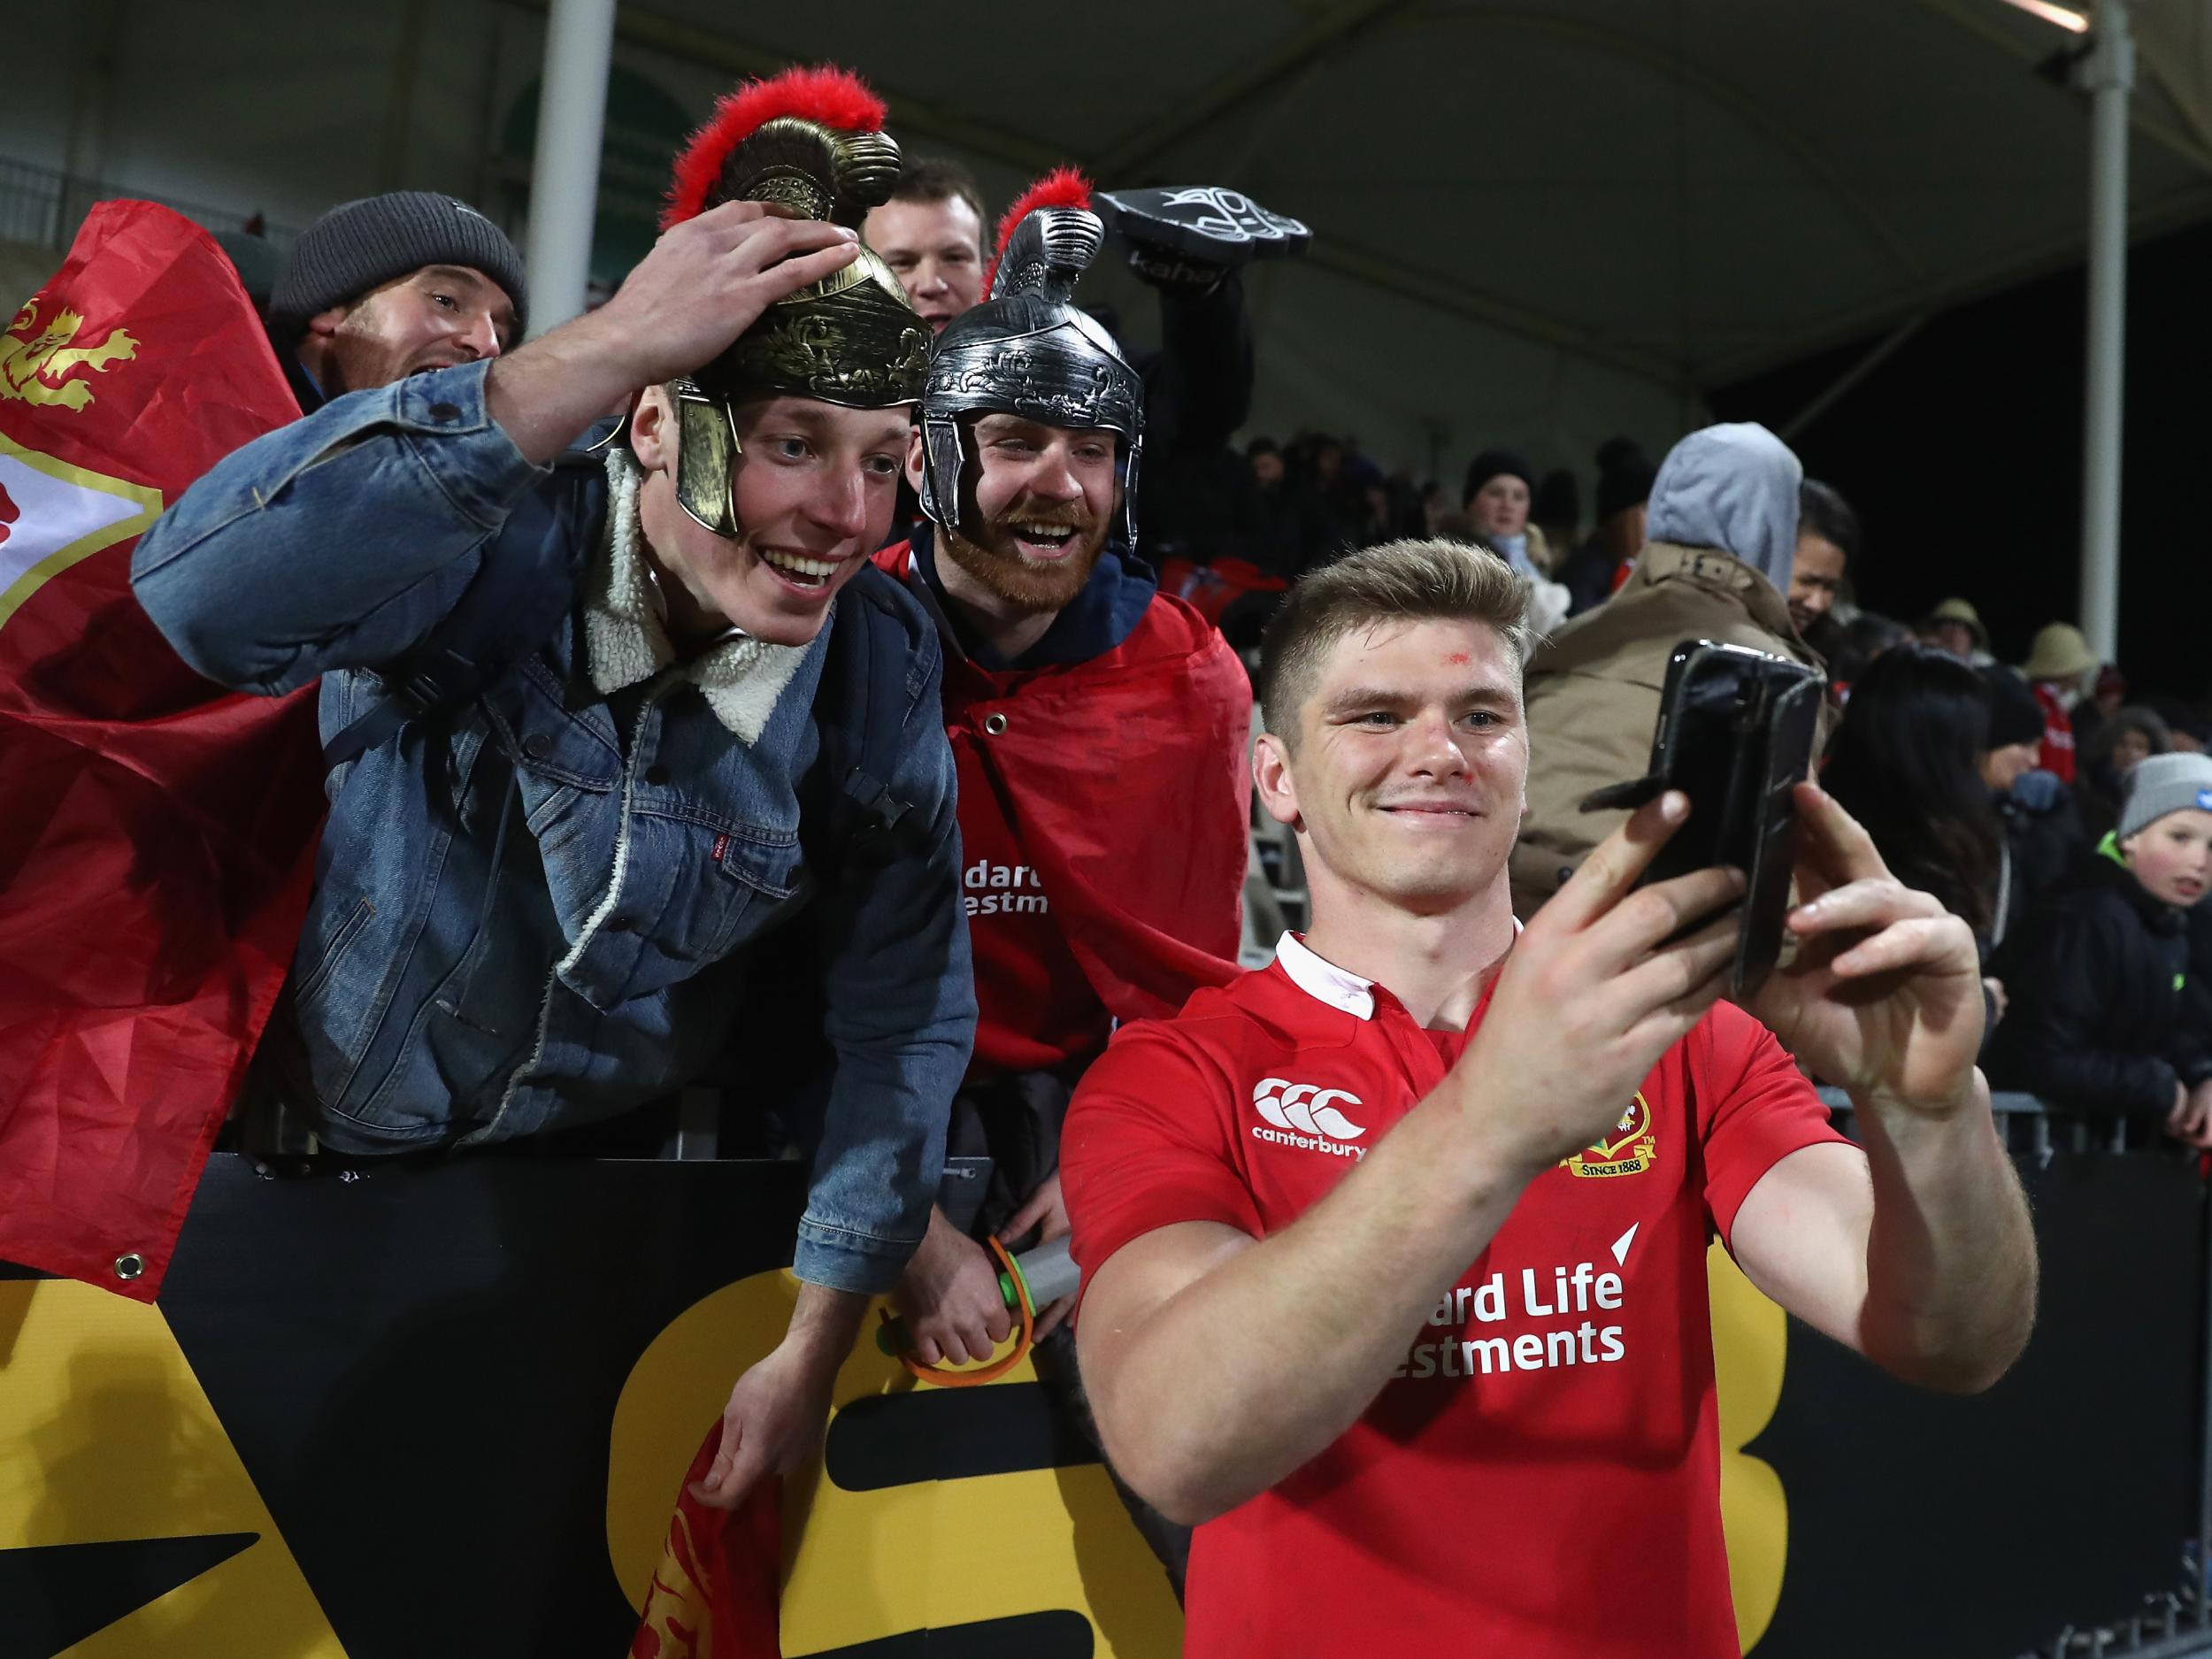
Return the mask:
{"type": "MultiPolygon", "coordinates": [[[[1290,1225],[1469,1033],[1425,1031],[1296,938],[1124,1029],[1062,1141],[1084,1276],[1177,1221],[1290,1225]]],[[[1183,1652],[1736,1655],[1705,1245],[1781,1157],[1829,1139],[1781,1044],[1719,1004],[1606,1141],[1528,1186],[1367,1413],[1197,1531],[1183,1652]]]]}

